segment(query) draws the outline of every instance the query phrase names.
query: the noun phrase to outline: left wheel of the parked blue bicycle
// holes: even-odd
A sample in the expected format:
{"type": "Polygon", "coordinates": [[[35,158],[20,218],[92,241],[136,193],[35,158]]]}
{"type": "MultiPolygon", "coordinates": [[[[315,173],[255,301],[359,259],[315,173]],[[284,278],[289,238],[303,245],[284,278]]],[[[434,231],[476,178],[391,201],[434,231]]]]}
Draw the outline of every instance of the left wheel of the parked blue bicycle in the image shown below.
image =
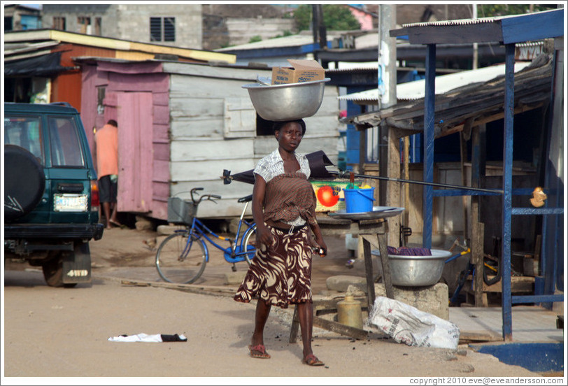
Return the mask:
{"type": "Polygon", "coordinates": [[[159,276],[169,283],[190,284],[201,276],[207,262],[203,241],[189,234],[176,233],[166,237],[156,252],[159,276]]]}

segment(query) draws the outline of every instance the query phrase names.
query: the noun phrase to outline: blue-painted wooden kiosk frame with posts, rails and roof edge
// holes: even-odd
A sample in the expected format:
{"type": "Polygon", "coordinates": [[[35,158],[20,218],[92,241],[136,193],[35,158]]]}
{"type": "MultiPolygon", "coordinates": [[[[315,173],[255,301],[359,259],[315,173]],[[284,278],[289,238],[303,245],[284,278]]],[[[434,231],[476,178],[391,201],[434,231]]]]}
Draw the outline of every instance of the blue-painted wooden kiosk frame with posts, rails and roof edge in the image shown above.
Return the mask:
{"type": "MultiPolygon", "coordinates": [[[[436,70],[436,44],[448,43],[483,43],[497,42],[505,45],[506,52],[506,84],[504,98],[504,148],[503,148],[503,189],[495,194],[503,195],[502,207],[502,317],[503,339],[512,341],[513,303],[549,303],[564,301],[563,294],[553,294],[555,287],[555,264],[542,267],[544,276],[544,294],[527,296],[511,295],[511,217],[512,215],[544,215],[542,255],[558,256],[562,250],[547,242],[562,240],[563,185],[548,178],[546,173],[545,190],[555,197],[552,207],[513,208],[511,199],[513,169],[513,115],[514,115],[514,55],[515,44],[538,41],[544,38],[564,36],[565,13],[563,8],[548,10],[527,15],[505,17],[486,17],[471,20],[448,20],[442,22],[416,23],[402,26],[390,31],[390,36],[408,36],[412,44],[427,45],[425,111],[424,111],[424,172],[423,180],[433,182],[434,166],[434,78],[436,70]],[[560,191],[559,191],[560,190],[560,191]],[[551,224],[553,223],[553,224],[551,224]],[[553,226],[551,226],[553,225],[553,226]],[[544,234],[550,229],[553,234],[544,234]],[[552,266],[550,266],[552,265],[552,266]],[[548,292],[548,294],[546,293],[548,292]]],[[[562,73],[562,69],[560,69],[562,73]]],[[[553,89],[551,85],[551,90],[553,89]]],[[[557,92],[562,92],[557,90],[557,92]]],[[[559,113],[559,112],[556,112],[559,113]]],[[[562,114],[560,112],[560,114],[562,114]]],[[[475,151],[475,150],[474,150],[475,151]]],[[[475,171],[474,171],[475,173],[475,171]]],[[[432,185],[423,189],[423,246],[432,246],[432,199],[434,196],[483,194],[468,191],[434,190],[432,185]]],[[[491,194],[491,193],[488,193],[491,194]]],[[[556,259],[549,259],[555,262],[556,259]]]]}

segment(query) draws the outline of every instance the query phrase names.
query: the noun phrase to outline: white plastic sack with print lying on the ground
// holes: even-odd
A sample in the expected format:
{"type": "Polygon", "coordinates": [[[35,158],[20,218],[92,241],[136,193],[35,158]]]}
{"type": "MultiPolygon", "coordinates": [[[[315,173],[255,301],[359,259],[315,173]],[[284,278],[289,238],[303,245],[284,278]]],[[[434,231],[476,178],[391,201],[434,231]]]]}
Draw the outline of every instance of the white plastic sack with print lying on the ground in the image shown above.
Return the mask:
{"type": "Polygon", "coordinates": [[[410,346],[455,350],[460,341],[460,329],[452,322],[384,296],[375,299],[369,324],[410,346]]]}

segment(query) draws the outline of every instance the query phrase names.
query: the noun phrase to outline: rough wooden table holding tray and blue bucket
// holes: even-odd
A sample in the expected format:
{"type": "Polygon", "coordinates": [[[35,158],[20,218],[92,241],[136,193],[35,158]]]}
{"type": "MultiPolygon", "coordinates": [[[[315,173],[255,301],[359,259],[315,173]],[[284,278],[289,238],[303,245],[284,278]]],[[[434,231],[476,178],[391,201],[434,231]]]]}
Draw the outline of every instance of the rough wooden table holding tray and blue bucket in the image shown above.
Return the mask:
{"type": "MultiPolygon", "coordinates": [[[[381,252],[381,266],[383,267],[383,283],[385,284],[386,294],[390,299],[394,299],[392,281],[390,279],[390,265],[388,262],[387,241],[388,221],[387,217],[398,215],[397,213],[383,213],[376,215],[376,218],[364,218],[365,216],[354,216],[355,218],[336,217],[328,214],[319,213],[317,220],[320,224],[322,236],[340,236],[353,234],[363,239],[363,255],[365,259],[365,277],[367,278],[367,308],[370,311],[375,302],[375,280],[373,276],[373,262],[371,259],[371,245],[378,248],[381,252]]],[[[371,216],[372,217],[372,216],[371,216]]],[[[319,309],[336,309],[337,301],[314,301],[314,313],[319,309]]],[[[352,338],[364,338],[367,331],[349,327],[344,324],[326,320],[314,315],[313,325],[328,331],[334,331],[341,335],[352,338]]],[[[298,306],[294,308],[292,317],[292,327],[290,329],[290,343],[297,340],[299,329],[298,306]]]]}

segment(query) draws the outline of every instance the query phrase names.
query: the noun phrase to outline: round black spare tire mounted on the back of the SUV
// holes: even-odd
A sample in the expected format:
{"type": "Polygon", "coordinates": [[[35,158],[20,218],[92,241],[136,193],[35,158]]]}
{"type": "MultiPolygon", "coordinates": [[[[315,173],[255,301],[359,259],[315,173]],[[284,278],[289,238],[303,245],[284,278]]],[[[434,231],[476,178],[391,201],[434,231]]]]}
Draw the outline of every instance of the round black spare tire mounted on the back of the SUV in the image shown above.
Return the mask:
{"type": "Polygon", "coordinates": [[[36,156],[16,145],[4,145],[4,164],[8,166],[4,168],[4,216],[16,220],[41,200],[45,174],[36,156]]]}

